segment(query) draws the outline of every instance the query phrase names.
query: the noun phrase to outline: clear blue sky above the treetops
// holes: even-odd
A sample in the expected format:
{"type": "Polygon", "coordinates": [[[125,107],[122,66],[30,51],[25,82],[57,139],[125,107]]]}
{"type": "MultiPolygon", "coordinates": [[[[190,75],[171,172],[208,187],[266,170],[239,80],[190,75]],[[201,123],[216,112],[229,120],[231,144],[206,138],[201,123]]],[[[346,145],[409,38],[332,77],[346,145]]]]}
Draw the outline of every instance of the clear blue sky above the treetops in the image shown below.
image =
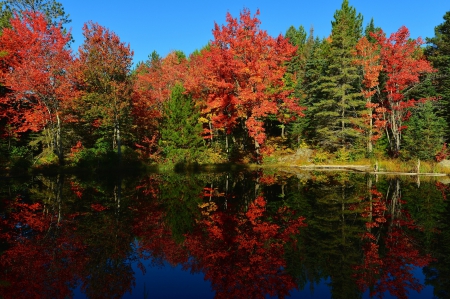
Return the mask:
{"type": "MultiPolygon", "coordinates": [[[[94,21],[114,31],[134,50],[134,62],[144,61],[156,50],[166,56],[181,50],[189,55],[210,41],[214,22],[225,24],[226,13],[239,17],[243,8],[253,15],[259,8],[261,29],[272,36],[284,34],[291,26],[314,27],[315,36],[326,37],[342,0],[59,0],[72,22],[73,49],[83,42],[82,27],[94,21]]],[[[364,17],[364,26],[374,19],[388,35],[402,25],[411,37],[432,37],[434,27],[450,11],[450,0],[350,0],[364,17]]]]}

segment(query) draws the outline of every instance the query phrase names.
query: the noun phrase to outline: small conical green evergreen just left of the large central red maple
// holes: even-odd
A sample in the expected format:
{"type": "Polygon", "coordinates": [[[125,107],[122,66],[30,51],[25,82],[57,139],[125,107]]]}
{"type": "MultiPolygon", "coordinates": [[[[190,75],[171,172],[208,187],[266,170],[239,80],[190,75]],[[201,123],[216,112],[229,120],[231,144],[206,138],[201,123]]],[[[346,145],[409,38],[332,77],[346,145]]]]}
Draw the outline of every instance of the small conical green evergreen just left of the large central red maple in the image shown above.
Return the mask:
{"type": "Polygon", "coordinates": [[[199,117],[191,97],[184,94],[184,87],[177,83],[166,102],[161,129],[161,144],[169,159],[198,162],[203,145],[199,117]]]}

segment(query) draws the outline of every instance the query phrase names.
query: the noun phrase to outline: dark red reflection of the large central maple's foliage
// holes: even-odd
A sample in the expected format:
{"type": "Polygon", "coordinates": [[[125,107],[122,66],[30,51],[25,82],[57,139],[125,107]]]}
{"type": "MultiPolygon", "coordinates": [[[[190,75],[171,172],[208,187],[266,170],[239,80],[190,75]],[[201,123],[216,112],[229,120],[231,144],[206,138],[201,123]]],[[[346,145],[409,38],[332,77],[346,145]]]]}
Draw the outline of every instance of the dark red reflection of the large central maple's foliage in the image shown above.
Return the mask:
{"type": "Polygon", "coordinates": [[[189,267],[205,273],[217,298],[284,298],[296,287],[284,269],[285,247],[304,226],[303,217],[287,217],[286,208],[266,214],[266,201],[258,196],[246,211],[229,213],[214,202],[200,206],[202,219],[186,248],[189,267]]]}

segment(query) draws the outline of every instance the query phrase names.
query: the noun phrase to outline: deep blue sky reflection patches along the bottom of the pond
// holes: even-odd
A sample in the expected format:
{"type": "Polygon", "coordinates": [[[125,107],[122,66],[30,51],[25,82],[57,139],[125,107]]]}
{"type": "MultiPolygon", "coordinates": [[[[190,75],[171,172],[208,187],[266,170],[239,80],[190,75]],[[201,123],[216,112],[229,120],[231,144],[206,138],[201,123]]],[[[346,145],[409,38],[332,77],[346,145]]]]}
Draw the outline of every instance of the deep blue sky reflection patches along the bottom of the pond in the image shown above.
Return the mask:
{"type": "MultiPolygon", "coordinates": [[[[203,279],[203,273],[192,274],[189,271],[182,270],[181,266],[172,267],[166,264],[164,267],[152,267],[148,265],[148,261],[143,261],[146,266],[146,273],[137,267],[137,263],[133,263],[133,271],[135,273],[135,287],[132,293],[126,293],[122,298],[148,298],[148,299],[209,299],[214,298],[215,293],[211,290],[209,281],[203,279]],[[146,294],[146,295],[145,295],[146,294]]],[[[415,268],[413,274],[419,279],[421,283],[424,282],[424,275],[422,269],[415,268]]],[[[314,285],[314,291],[311,293],[310,286],[307,285],[303,290],[292,290],[291,296],[287,298],[301,298],[301,299],[320,299],[331,298],[330,290],[327,282],[321,282],[319,285],[314,285]]],[[[81,293],[80,288],[74,292],[75,299],[86,298],[81,293]]],[[[266,298],[275,299],[276,297],[266,298]]],[[[369,291],[363,295],[363,299],[369,299],[369,291]]],[[[376,297],[375,297],[376,298],[376,297]]],[[[383,298],[396,298],[385,294],[383,298]]],[[[425,286],[425,288],[417,293],[410,291],[409,299],[426,299],[433,298],[433,288],[425,286]]],[[[351,298],[349,298],[351,299],[351,298]]]]}

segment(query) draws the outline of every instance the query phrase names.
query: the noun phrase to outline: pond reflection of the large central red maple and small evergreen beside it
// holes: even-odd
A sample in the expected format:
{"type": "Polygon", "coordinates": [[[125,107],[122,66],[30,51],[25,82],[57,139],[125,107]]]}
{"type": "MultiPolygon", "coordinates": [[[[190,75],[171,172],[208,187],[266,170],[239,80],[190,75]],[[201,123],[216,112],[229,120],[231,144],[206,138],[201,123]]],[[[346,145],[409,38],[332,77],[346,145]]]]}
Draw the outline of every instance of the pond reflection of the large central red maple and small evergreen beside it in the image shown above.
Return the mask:
{"type": "Polygon", "coordinates": [[[154,200],[148,210],[139,209],[149,215],[137,226],[142,254],[203,272],[218,298],[285,296],[295,283],[283,270],[283,252],[294,246],[290,236],[303,218],[286,207],[268,211],[257,178],[160,176],[159,195],[143,190],[154,200]]]}

